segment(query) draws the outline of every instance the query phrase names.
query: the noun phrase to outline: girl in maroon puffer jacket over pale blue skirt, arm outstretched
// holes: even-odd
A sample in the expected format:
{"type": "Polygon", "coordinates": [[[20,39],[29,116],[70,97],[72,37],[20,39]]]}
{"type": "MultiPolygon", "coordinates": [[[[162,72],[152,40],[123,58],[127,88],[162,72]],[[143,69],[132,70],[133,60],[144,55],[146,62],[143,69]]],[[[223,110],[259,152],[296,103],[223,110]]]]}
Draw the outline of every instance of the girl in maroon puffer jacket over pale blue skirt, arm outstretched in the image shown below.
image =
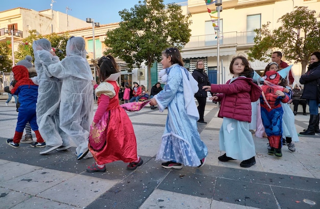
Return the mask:
{"type": "Polygon", "coordinates": [[[256,102],[262,89],[252,81],[253,69],[245,57],[233,58],[230,64],[233,78],[226,84],[211,84],[203,89],[219,92],[211,100],[221,101],[219,118],[223,118],[219,133],[220,150],[225,154],[218,157],[220,161],[243,160],[241,167],[249,168],[256,164],[256,150],[252,133],[251,102],[256,102]]]}

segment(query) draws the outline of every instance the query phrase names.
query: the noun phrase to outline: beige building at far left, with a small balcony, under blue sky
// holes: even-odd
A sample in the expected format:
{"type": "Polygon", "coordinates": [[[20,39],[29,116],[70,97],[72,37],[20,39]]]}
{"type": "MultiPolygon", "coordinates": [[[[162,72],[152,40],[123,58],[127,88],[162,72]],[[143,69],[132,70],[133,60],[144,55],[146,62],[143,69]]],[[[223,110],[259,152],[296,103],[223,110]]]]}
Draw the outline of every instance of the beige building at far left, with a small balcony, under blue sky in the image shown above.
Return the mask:
{"type": "MultiPolygon", "coordinates": [[[[51,9],[35,11],[18,7],[0,11],[0,42],[10,44],[13,51],[16,51],[22,39],[30,35],[30,30],[36,30],[37,34],[47,35],[88,26],[90,24],[85,20],[51,9]]],[[[15,62],[14,57],[13,62],[15,62]]],[[[5,73],[1,74],[0,79],[2,80],[1,87],[8,85],[11,80],[10,75],[5,73]]]]}

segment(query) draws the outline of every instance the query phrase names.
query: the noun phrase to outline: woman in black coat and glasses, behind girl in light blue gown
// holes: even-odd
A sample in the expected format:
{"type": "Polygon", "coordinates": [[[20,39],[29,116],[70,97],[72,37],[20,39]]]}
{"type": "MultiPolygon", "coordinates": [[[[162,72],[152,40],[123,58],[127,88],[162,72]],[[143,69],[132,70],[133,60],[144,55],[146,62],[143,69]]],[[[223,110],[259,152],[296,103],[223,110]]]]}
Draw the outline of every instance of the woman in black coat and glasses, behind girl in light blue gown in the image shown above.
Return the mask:
{"type": "Polygon", "coordinates": [[[202,89],[202,86],[210,86],[211,83],[209,81],[208,75],[204,72],[204,62],[202,60],[197,61],[196,69],[192,73],[193,78],[198,82],[199,90],[196,92],[194,97],[198,101],[198,112],[199,112],[199,124],[207,124],[204,121],[204,108],[207,103],[207,91],[202,89]]]}

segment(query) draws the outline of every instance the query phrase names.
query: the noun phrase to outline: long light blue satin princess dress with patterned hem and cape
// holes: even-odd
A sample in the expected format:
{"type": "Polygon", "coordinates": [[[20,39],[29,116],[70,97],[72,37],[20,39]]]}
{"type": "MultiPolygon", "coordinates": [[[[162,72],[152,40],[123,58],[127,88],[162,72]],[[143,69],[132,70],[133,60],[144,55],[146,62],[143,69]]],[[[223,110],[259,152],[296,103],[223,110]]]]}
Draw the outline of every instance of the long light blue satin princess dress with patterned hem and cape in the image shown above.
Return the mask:
{"type": "MultiPolygon", "coordinates": [[[[165,131],[156,160],[176,161],[185,166],[197,167],[200,159],[207,156],[208,148],[200,139],[198,119],[187,114],[182,73],[178,65],[169,67],[164,90],[154,96],[159,109],[168,107],[165,131]]],[[[194,98],[193,93],[190,97],[194,98]]]]}

